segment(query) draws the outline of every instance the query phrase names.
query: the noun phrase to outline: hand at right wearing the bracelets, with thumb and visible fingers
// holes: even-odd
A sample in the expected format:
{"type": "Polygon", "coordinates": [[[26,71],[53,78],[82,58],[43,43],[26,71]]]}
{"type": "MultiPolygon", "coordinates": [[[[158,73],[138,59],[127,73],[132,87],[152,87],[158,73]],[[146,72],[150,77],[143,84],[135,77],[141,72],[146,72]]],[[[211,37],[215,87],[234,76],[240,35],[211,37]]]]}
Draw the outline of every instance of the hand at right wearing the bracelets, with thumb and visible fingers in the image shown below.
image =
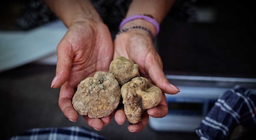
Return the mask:
{"type": "MultiPolygon", "coordinates": [[[[164,93],[175,94],[180,91],[166,79],[161,58],[147,31],[132,29],[119,34],[114,41],[114,58],[118,56],[124,56],[135,62],[139,66],[140,75],[151,79],[164,93]]],[[[147,125],[149,115],[155,118],[166,116],[168,105],[164,93],[159,105],[144,112],[139,123],[128,126],[130,132],[141,131],[147,125]]],[[[118,124],[123,124],[126,121],[123,108],[116,110],[115,120],[118,124]]]]}

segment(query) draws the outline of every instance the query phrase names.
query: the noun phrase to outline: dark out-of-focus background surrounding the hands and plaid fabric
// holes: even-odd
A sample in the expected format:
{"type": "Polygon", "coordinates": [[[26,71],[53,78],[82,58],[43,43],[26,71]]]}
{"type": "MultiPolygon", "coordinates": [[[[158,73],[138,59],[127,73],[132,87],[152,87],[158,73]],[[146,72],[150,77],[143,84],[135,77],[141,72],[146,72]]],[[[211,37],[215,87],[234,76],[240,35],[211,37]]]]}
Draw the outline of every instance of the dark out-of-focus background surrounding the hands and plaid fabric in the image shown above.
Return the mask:
{"type": "MultiPolygon", "coordinates": [[[[100,14],[113,8],[94,4],[100,14]]],[[[114,120],[97,133],[113,140],[198,139],[194,129],[222,93],[235,85],[256,89],[254,8],[248,1],[177,0],[156,40],[166,77],[181,91],[167,95],[168,115],[150,118],[140,133],[114,120]]],[[[120,22],[104,21],[114,35],[120,22]]],[[[56,46],[66,30],[43,1],[0,2],[0,139],[41,127],[94,131],[83,118],[66,119],[58,106],[59,89],[50,88],[56,46]]]]}

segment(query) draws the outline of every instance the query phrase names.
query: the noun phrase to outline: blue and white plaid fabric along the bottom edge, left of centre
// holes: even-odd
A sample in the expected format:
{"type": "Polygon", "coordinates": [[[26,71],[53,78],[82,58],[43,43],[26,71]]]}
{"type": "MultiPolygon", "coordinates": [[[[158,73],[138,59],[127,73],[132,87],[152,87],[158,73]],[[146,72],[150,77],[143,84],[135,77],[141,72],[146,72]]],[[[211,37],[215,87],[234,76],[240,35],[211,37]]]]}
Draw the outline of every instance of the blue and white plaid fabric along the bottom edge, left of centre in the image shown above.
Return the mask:
{"type": "Polygon", "coordinates": [[[33,128],[9,140],[108,140],[83,127],[33,128]]]}

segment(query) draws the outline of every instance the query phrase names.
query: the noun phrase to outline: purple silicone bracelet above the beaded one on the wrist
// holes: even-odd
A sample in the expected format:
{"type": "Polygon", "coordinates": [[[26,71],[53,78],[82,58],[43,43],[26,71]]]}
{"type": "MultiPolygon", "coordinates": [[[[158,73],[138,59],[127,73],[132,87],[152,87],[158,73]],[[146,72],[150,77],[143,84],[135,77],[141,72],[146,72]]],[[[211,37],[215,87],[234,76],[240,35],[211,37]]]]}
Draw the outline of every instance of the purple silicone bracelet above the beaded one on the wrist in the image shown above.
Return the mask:
{"type": "Polygon", "coordinates": [[[144,19],[145,21],[148,21],[150,23],[152,23],[155,28],[156,28],[156,35],[159,33],[159,24],[157,23],[156,20],[152,19],[149,16],[143,16],[143,15],[133,15],[133,16],[129,16],[128,18],[124,19],[121,24],[119,25],[119,30],[121,30],[121,28],[124,26],[124,24],[128,23],[129,21],[133,21],[135,19],[144,19]]]}

